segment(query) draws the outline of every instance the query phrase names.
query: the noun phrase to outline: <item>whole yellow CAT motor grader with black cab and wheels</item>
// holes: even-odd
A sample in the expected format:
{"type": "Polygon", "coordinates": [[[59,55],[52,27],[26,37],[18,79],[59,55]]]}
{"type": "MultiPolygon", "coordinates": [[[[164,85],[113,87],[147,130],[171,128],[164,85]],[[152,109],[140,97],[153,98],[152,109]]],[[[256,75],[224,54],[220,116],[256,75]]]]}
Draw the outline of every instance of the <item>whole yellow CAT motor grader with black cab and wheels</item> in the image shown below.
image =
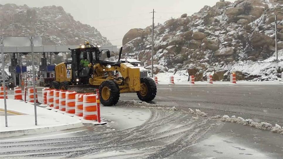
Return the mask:
{"type": "Polygon", "coordinates": [[[94,92],[99,89],[100,102],[104,106],[115,105],[120,93],[137,93],[141,101],[152,101],[156,96],[156,85],[150,77],[140,77],[140,70],[131,63],[100,60],[103,51],[110,57],[109,50],[86,43],[71,50],[71,61],[55,67],[55,81],[50,88],[94,92]]]}

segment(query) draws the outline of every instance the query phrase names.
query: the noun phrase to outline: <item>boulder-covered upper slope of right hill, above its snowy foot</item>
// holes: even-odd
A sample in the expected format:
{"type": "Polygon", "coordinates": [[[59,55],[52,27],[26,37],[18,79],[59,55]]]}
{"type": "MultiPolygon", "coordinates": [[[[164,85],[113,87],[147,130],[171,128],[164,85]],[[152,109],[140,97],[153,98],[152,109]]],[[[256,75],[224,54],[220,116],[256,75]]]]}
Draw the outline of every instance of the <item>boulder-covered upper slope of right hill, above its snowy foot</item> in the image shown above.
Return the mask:
{"type": "MultiPolygon", "coordinates": [[[[200,63],[224,65],[265,60],[275,51],[275,19],[272,15],[277,14],[278,19],[282,19],[282,8],[279,0],[219,1],[214,6],[204,6],[190,16],[183,14],[180,18],[167,20],[155,27],[156,62],[168,68],[187,69],[200,63]]],[[[281,49],[283,21],[277,23],[278,49],[281,49]]],[[[147,29],[150,30],[151,26],[147,29]]],[[[124,55],[132,53],[132,57],[149,61],[150,56],[139,55],[139,52],[151,49],[151,35],[143,34],[135,38],[127,44],[123,43],[123,47],[131,47],[123,52],[124,55]],[[139,46],[135,47],[136,44],[139,46]]],[[[217,79],[225,77],[223,72],[214,74],[217,79]]]]}

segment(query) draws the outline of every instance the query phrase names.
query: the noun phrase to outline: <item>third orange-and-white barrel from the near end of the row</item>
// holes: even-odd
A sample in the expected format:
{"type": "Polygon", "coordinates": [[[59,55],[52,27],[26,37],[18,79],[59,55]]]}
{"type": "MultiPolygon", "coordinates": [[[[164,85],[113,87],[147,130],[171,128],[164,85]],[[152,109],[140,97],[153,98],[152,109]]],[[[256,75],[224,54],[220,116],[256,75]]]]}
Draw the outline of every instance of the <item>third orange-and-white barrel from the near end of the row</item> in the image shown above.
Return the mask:
{"type": "Polygon", "coordinates": [[[76,102],[77,92],[67,92],[66,93],[66,111],[65,115],[73,117],[75,115],[75,102],[76,102]]]}

